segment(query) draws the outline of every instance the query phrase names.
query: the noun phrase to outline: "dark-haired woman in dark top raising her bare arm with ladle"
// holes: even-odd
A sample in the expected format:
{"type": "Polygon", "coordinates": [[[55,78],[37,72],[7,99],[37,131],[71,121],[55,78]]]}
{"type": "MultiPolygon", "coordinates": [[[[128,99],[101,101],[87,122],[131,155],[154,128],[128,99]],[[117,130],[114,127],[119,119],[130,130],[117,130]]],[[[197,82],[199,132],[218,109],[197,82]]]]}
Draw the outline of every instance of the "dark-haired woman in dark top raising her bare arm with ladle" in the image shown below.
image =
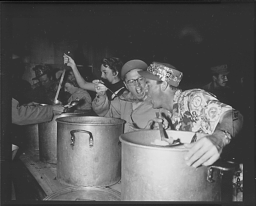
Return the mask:
{"type": "MultiPolygon", "coordinates": [[[[67,66],[70,66],[73,70],[74,76],[76,77],[76,81],[82,89],[95,91],[94,83],[86,82],[84,78],[79,73],[75,61],[64,54],[64,64],[67,63],[67,66]]],[[[115,57],[110,58],[103,58],[101,65],[101,72],[102,72],[102,79],[106,80],[105,84],[109,89],[111,89],[117,96],[122,95],[122,93],[126,90],[125,85],[121,81],[120,78],[120,71],[122,68],[122,61],[115,57]]],[[[99,82],[100,80],[98,80],[99,82]]],[[[115,98],[115,95],[112,94],[110,91],[107,91],[108,100],[111,101],[115,98]]]]}

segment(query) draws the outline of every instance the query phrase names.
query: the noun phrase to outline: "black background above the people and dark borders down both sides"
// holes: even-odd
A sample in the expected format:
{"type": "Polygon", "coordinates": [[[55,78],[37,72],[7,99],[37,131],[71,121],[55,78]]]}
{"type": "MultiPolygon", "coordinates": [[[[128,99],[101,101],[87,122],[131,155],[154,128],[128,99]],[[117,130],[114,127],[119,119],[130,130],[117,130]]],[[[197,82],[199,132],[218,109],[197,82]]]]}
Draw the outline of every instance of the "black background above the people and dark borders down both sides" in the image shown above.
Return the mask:
{"type": "MultiPolygon", "coordinates": [[[[94,78],[99,78],[103,57],[165,62],[183,72],[183,89],[209,83],[209,69],[227,64],[231,87],[244,77],[247,129],[242,138],[244,155],[253,164],[254,8],[246,1],[1,2],[1,200],[9,197],[8,181],[2,178],[9,173],[2,168],[8,168],[10,158],[12,54],[32,65],[63,65],[63,53],[71,51],[77,64],[93,65],[94,78]]],[[[254,181],[253,168],[246,161],[244,168],[246,185],[254,181]]],[[[248,205],[254,201],[252,189],[249,184],[244,189],[248,205]]]]}

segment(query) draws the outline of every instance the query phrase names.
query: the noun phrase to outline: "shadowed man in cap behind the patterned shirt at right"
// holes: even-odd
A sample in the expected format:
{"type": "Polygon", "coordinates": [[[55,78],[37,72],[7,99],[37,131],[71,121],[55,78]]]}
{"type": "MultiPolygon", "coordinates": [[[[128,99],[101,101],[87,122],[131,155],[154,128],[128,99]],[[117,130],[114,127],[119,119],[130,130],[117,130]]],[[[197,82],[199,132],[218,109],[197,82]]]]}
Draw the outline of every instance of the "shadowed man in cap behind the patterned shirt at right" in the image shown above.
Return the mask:
{"type": "Polygon", "coordinates": [[[230,71],[227,70],[227,65],[212,67],[212,82],[210,82],[208,85],[204,85],[202,89],[213,93],[215,96],[217,96],[220,102],[235,106],[236,103],[234,101],[234,91],[227,86],[227,75],[229,73],[230,71]]]}

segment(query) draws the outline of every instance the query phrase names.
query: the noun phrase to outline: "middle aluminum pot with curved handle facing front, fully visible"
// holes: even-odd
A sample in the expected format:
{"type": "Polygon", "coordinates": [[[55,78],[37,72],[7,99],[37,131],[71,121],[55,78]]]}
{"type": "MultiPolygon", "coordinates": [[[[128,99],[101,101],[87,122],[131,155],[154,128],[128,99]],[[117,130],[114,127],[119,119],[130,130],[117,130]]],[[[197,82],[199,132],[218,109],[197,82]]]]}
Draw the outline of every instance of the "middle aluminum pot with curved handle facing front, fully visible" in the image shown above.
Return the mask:
{"type": "Polygon", "coordinates": [[[121,178],[122,119],[62,117],[57,127],[57,179],[68,186],[110,186],[121,178]]]}

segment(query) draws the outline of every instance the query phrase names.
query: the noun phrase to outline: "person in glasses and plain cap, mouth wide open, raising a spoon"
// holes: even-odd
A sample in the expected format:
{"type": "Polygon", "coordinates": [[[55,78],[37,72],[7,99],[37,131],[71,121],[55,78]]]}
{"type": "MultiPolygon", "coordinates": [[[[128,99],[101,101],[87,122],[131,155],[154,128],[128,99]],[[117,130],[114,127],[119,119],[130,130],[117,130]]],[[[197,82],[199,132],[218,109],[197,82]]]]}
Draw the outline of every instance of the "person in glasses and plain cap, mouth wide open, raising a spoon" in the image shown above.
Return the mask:
{"type": "Polygon", "coordinates": [[[126,62],[121,70],[121,77],[128,91],[125,91],[119,97],[121,99],[138,99],[142,100],[141,102],[125,102],[118,97],[109,102],[106,94],[107,87],[98,80],[93,80],[97,95],[92,104],[96,114],[104,117],[124,119],[126,121],[125,133],[133,131],[129,128],[131,125],[136,128],[151,129],[153,127],[157,129],[158,125],[153,124],[151,119],[156,117],[156,112],[159,112],[159,109],[153,109],[151,98],[143,92],[145,78],[138,73],[138,71],[143,71],[147,68],[148,65],[142,60],[133,59],[126,62]]]}

